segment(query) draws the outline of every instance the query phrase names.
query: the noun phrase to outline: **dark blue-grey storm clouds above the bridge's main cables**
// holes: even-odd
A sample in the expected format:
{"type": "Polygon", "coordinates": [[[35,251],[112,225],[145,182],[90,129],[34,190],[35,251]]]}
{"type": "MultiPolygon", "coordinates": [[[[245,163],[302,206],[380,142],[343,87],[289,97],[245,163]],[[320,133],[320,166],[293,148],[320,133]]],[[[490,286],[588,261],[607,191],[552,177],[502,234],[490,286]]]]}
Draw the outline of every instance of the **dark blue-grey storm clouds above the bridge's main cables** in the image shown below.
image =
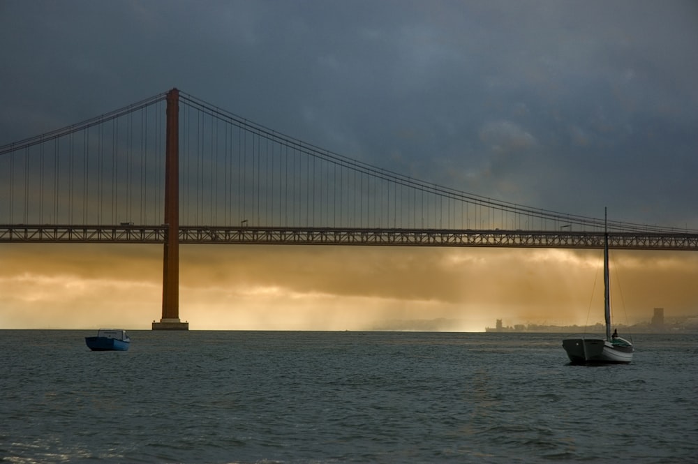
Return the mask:
{"type": "Polygon", "coordinates": [[[179,87],[480,195],[698,227],[692,1],[5,1],[0,143],[179,87]]]}

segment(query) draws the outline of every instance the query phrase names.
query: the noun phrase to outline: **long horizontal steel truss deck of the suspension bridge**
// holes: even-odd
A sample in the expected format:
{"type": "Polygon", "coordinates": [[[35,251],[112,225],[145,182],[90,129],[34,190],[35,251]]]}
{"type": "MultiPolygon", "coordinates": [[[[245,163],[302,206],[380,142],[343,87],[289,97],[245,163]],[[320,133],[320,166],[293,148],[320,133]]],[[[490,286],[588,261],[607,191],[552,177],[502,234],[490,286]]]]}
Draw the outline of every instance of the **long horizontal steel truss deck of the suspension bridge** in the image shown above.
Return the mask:
{"type": "MultiPolygon", "coordinates": [[[[0,225],[0,243],[164,244],[166,235],[163,225],[0,225]]],[[[524,230],[179,227],[180,244],[603,248],[603,237],[603,232],[524,230]]],[[[698,234],[609,232],[609,246],[695,251],[698,234]]]]}

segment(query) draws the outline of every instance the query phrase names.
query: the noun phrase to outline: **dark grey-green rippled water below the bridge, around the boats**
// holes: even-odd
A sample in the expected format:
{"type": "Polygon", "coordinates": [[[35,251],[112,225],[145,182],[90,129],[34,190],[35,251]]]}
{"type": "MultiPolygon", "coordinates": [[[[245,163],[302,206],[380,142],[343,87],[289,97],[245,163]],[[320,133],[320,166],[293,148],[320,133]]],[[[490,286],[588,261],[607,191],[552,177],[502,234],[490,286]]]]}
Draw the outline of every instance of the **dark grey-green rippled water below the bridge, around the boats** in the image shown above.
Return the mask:
{"type": "Polygon", "coordinates": [[[698,336],[0,331],[10,463],[696,463],[698,336]]]}

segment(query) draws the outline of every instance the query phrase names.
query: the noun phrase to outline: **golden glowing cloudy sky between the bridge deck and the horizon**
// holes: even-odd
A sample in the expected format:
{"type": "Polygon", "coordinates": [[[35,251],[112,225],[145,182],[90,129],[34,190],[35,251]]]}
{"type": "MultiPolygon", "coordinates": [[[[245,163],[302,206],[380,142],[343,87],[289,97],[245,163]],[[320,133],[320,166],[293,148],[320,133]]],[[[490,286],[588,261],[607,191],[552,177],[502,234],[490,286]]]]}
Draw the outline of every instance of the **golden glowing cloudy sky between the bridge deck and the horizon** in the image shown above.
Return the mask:
{"type": "MultiPolygon", "coordinates": [[[[192,329],[482,330],[496,318],[593,324],[602,320],[600,254],[187,245],[180,247],[180,317],[192,329]]],[[[667,315],[697,311],[695,254],[613,256],[614,304],[626,323],[647,320],[655,306],[667,315]]],[[[161,246],[5,245],[0,324],[147,329],[161,315],[161,285],[161,246]]]]}

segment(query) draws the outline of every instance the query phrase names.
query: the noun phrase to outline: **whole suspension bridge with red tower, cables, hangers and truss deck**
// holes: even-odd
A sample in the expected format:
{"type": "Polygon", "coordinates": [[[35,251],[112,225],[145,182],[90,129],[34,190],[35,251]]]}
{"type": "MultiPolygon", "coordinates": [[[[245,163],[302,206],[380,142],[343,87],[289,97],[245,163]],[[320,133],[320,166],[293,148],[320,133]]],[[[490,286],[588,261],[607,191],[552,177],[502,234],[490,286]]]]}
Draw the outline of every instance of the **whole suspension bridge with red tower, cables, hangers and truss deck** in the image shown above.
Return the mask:
{"type": "Polygon", "coordinates": [[[698,250],[698,230],[604,222],[431,184],[321,149],[171,89],[0,147],[0,243],[698,250]]]}

